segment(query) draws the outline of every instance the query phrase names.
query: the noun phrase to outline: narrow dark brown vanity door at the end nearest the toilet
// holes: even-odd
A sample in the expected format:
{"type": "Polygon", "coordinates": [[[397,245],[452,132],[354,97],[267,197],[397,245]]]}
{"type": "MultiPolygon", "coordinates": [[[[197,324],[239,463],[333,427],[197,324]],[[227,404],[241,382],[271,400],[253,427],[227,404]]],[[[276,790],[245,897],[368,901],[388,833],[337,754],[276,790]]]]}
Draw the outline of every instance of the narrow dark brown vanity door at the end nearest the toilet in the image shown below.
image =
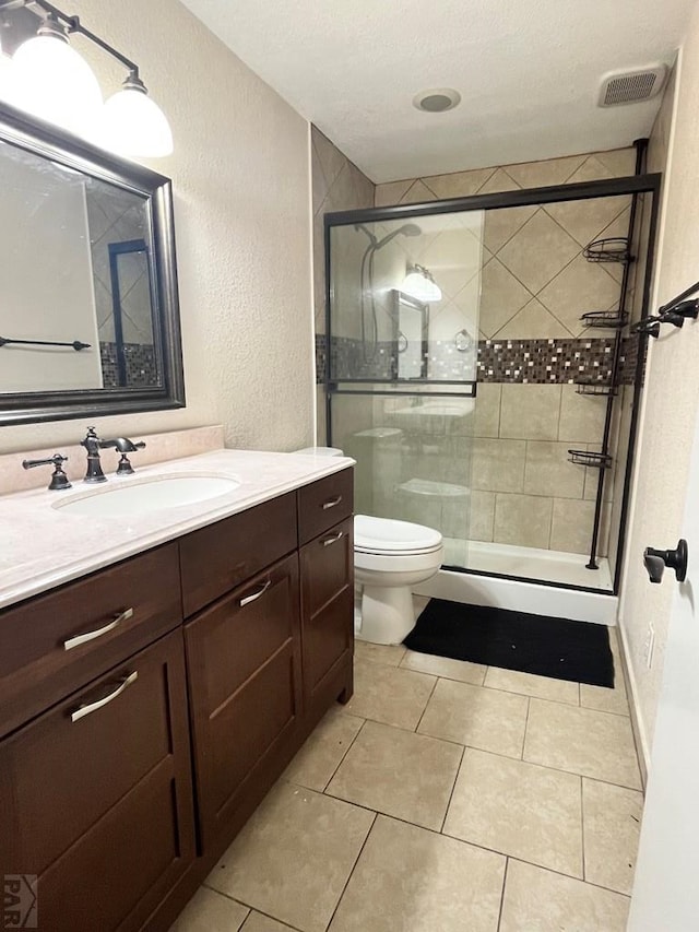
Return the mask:
{"type": "Polygon", "coordinates": [[[311,723],[337,698],[343,669],[352,676],[354,544],[352,518],[300,552],[304,696],[311,723]],[[340,677],[340,679],[339,679],[340,677]]]}

